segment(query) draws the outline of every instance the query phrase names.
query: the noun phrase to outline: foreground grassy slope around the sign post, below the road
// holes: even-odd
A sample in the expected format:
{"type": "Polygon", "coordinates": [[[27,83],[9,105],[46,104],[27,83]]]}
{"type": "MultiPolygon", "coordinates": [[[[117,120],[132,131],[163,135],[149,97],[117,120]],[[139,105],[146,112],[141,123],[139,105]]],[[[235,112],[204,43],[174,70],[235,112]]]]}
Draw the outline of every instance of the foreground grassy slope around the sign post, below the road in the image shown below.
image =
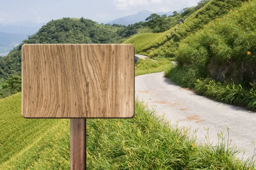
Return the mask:
{"type": "MultiPolygon", "coordinates": [[[[133,119],[87,119],[88,170],[253,170],[225,139],[196,144],[186,128],[172,128],[143,103],[133,119]]],[[[250,163],[251,162],[251,163],[250,163]]],[[[21,93],[0,99],[0,169],[69,170],[70,120],[23,119],[21,93]]]]}

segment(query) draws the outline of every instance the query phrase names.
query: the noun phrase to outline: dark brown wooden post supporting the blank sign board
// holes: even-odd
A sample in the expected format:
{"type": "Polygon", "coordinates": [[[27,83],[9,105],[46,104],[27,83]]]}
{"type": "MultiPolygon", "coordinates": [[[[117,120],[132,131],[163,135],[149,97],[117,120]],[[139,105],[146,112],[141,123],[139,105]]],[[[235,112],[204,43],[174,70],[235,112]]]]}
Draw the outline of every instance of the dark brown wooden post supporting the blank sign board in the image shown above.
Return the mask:
{"type": "Polygon", "coordinates": [[[70,170],[86,170],[86,119],[70,119],[70,170]]]}

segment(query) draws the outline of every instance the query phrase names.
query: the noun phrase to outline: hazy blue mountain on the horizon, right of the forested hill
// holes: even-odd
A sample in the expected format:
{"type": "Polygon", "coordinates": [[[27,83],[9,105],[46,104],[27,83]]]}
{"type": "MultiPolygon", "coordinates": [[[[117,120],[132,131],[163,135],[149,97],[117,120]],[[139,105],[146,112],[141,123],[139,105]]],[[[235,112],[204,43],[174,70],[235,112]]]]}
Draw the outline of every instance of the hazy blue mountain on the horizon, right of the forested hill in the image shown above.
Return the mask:
{"type": "MultiPolygon", "coordinates": [[[[148,10],[143,10],[143,11],[140,11],[138,12],[137,14],[135,15],[128,15],[128,16],[125,16],[125,17],[121,17],[121,18],[117,18],[111,22],[108,22],[109,24],[121,24],[121,25],[125,25],[125,26],[128,26],[129,24],[134,24],[134,23],[138,23],[140,21],[145,21],[145,19],[147,17],[149,17],[150,14],[153,14],[154,12],[152,11],[148,11],[148,10]]],[[[166,14],[167,16],[169,15],[173,15],[173,12],[172,11],[169,11],[169,12],[158,12],[157,13],[158,15],[163,15],[163,14],[166,14]]],[[[106,24],[108,24],[106,23],[106,24]]]]}

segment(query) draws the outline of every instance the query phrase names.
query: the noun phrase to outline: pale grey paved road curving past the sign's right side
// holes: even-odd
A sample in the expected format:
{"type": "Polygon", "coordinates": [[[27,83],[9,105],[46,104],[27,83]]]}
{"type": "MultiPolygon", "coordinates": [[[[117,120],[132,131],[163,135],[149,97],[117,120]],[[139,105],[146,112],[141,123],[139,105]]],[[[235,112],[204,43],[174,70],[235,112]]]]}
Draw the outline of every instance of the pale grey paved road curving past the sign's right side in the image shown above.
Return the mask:
{"type": "MultiPolygon", "coordinates": [[[[192,91],[180,88],[163,77],[162,73],[146,74],[135,77],[135,96],[150,106],[157,105],[158,114],[165,113],[172,125],[198,129],[198,142],[207,135],[204,127],[209,127],[210,142],[216,144],[217,133],[230,128],[231,144],[246,150],[244,158],[253,155],[252,140],[256,142],[256,113],[245,108],[215,102],[192,91]]],[[[239,154],[241,158],[242,154],[239,154]]]]}

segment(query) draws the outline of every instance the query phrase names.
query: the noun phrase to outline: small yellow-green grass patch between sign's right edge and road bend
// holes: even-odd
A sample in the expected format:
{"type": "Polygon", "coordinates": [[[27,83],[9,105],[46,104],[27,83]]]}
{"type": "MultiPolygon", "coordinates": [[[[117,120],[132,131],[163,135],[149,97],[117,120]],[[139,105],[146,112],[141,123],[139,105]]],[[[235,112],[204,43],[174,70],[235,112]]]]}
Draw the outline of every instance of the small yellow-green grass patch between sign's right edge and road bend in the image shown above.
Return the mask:
{"type": "Polygon", "coordinates": [[[158,61],[152,61],[148,58],[139,59],[135,64],[135,76],[167,71],[170,65],[173,64],[168,59],[160,59],[158,61]]]}

